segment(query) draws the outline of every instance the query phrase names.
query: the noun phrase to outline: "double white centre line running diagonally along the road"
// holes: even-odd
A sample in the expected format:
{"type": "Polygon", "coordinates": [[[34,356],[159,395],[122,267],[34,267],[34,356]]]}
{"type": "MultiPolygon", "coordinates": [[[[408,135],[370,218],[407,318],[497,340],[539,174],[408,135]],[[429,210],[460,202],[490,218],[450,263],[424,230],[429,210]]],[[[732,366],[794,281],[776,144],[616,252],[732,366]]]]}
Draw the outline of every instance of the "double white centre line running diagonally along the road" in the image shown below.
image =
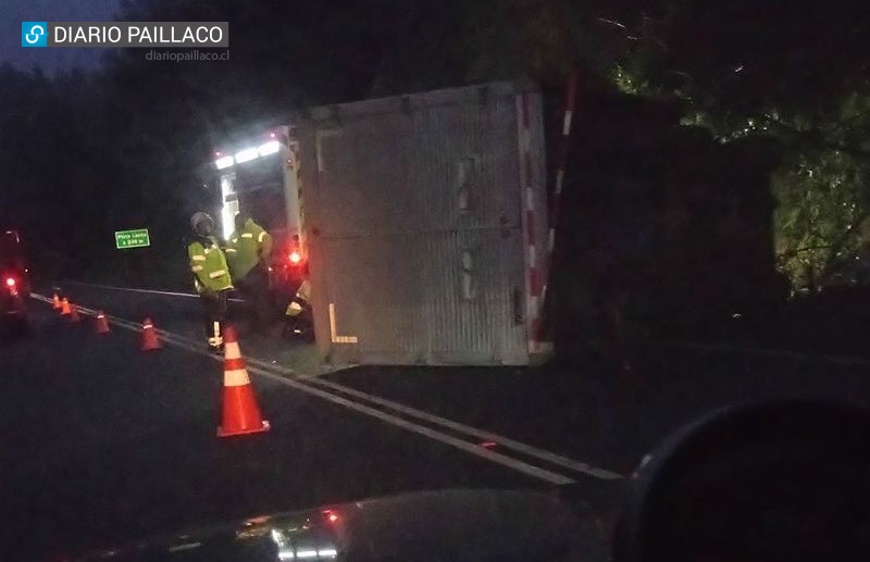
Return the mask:
{"type": "MultiPolygon", "coordinates": [[[[41,301],[47,302],[49,304],[51,303],[51,299],[49,299],[47,297],[44,297],[41,295],[34,294],[34,295],[32,295],[32,297],[34,299],[41,300],[41,301]]],[[[86,308],[86,307],[79,307],[78,310],[79,310],[79,312],[82,312],[83,314],[86,314],[86,315],[91,315],[91,316],[96,316],[97,315],[97,311],[96,310],[92,310],[92,309],[89,309],[89,308],[86,308]]],[[[127,321],[125,319],[120,319],[117,316],[112,316],[110,314],[107,314],[105,316],[116,326],[121,326],[121,327],[123,327],[125,329],[129,329],[132,332],[140,332],[141,330],[141,325],[138,324],[138,323],[130,322],[130,321],[127,321]]],[[[219,361],[219,362],[223,361],[222,357],[214,355],[211,352],[203,350],[202,347],[198,342],[196,342],[196,341],[194,341],[191,339],[188,339],[188,338],[186,338],[184,336],[181,336],[181,335],[177,335],[177,334],[173,334],[171,332],[166,332],[166,330],[163,330],[163,329],[157,329],[156,332],[161,336],[161,338],[166,344],[169,344],[171,346],[174,346],[174,347],[177,347],[177,348],[181,348],[181,349],[184,349],[184,350],[187,350],[187,351],[190,351],[192,353],[197,353],[197,354],[200,354],[200,355],[203,355],[203,357],[211,358],[211,359],[213,359],[215,361],[219,361]]],[[[436,425],[440,425],[443,427],[452,429],[452,430],[455,430],[457,433],[460,433],[460,434],[464,434],[464,435],[468,435],[468,436],[471,436],[471,437],[475,437],[475,438],[480,438],[480,439],[485,439],[487,441],[495,441],[500,447],[504,447],[505,449],[513,450],[513,451],[517,451],[517,452],[520,452],[520,453],[523,453],[523,454],[527,454],[530,457],[534,457],[534,458],[537,458],[539,460],[547,461],[547,462],[550,462],[552,464],[566,467],[566,469],[570,469],[572,471],[582,473],[582,474],[587,475],[587,476],[593,476],[593,477],[596,477],[596,478],[599,478],[599,479],[605,479],[605,480],[614,480],[614,479],[623,478],[623,476],[621,474],[618,474],[616,472],[611,472],[611,471],[608,471],[608,470],[605,470],[605,469],[599,469],[597,466],[592,466],[592,465],[589,465],[587,463],[579,462],[579,461],[575,461],[573,459],[569,459],[569,458],[556,454],[556,453],[552,453],[550,451],[538,449],[536,447],[533,447],[533,446],[530,446],[530,445],[526,445],[526,444],[523,444],[523,442],[520,442],[520,441],[515,441],[513,439],[509,439],[509,438],[504,437],[504,436],[498,435],[498,434],[494,434],[494,433],[490,433],[490,432],[478,429],[476,427],[471,427],[471,426],[455,422],[452,420],[447,420],[445,417],[440,417],[440,416],[437,416],[437,415],[434,415],[434,414],[431,414],[431,413],[427,413],[427,412],[424,412],[424,411],[421,411],[421,410],[417,410],[414,408],[407,407],[405,404],[400,404],[398,402],[394,402],[394,401],[386,400],[386,399],[383,399],[383,398],[380,398],[380,397],[376,397],[376,396],[368,395],[365,392],[361,392],[359,390],[356,390],[353,388],[350,388],[350,387],[347,387],[347,386],[344,386],[344,385],[339,385],[337,383],[333,383],[333,382],[330,382],[330,380],[323,380],[323,379],[319,379],[319,378],[301,378],[301,379],[300,378],[297,378],[297,379],[287,378],[286,375],[298,376],[298,373],[296,371],[291,370],[291,369],[283,367],[281,365],[274,365],[274,364],[268,363],[265,361],[259,360],[257,358],[245,357],[245,361],[246,361],[246,363],[248,365],[248,371],[251,372],[251,373],[254,373],[254,374],[258,374],[260,376],[266,377],[266,378],[269,378],[271,380],[274,380],[276,383],[283,384],[285,386],[289,386],[289,387],[295,388],[295,389],[297,389],[299,391],[307,392],[307,394],[316,396],[319,398],[323,398],[324,400],[328,400],[331,402],[337,403],[337,404],[343,405],[345,408],[348,408],[350,410],[355,410],[355,411],[364,413],[366,415],[376,417],[376,419],[378,419],[378,420],[381,420],[383,422],[389,423],[389,424],[395,425],[397,427],[400,427],[402,429],[406,429],[406,430],[409,430],[409,432],[412,432],[412,433],[428,437],[428,438],[431,438],[433,440],[443,442],[445,445],[450,445],[452,447],[456,447],[456,448],[458,448],[460,450],[463,450],[463,451],[469,452],[471,454],[474,454],[476,457],[484,458],[484,459],[486,459],[486,460],[488,460],[490,462],[494,462],[496,464],[500,464],[502,466],[515,470],[515,471],[518,471],[520,473],[526,474],[529,476],[536,477],[538,479],[542,479],[544,482],[548,482],[550,484],[555,484],[555,485],[571,484],[571,483],[574,482],[574,479],[570,478],[568,476],[564,476],[562,474],[558,474],[558,473],[555,473],[552,471],[548,471],[546,469],[540,469],[539,466],[535,466],[533,464],[526,463],[526,462],[521,461],[519,459],[514,459],[512,457],[508,457],[507,454],[498,453],[498,452],[492,451],[489,449],[480,447],[476,444],[472,444],[472,442],[456,438],[453,436],[450,436],[450,435],[447,435],[445,433],[438,432],[437,429],[425,427],[425,426],[419,425],[417,423],[410,422],[408,420],[398,417],[396,415],[383,412],[381,410],[376,410],[376,409],[371,408],[369,405],[365,405],[365,404],[362,404],[362,403],[359,403],[359,402],[355,402],[355,401],[349,400],[349,399],[347,399],[345,397],[337,396],[337,395],[335,395],[333,392],[328,392],[328,391],[326,391],[324,389],[314,388],[314,385],[319,385],[321,387],[331,388],[334,391],[340,391],[343,394],[346,394],[346,395],[349,395],[349,396],[353,396],[355,398],[366,400],[366,401],[369,401],[371,403],[378,404],[378,405],[382,405],[384,408],[388,408],[388,409],[390,409],[390,410],[393,410],[395,412],[398,412],[398,413],[401,413],[401,414],[405,414],[405,415],[409,415],[409,416],[412,416],[412,417],[417,417],[418,420],[423,420],[423,421],[426,421],[426,422],[430,422],[430,423],[434,423],[436,425]],[[274,371],[277,371],[281,374],[274,373],[274,371]]]]}

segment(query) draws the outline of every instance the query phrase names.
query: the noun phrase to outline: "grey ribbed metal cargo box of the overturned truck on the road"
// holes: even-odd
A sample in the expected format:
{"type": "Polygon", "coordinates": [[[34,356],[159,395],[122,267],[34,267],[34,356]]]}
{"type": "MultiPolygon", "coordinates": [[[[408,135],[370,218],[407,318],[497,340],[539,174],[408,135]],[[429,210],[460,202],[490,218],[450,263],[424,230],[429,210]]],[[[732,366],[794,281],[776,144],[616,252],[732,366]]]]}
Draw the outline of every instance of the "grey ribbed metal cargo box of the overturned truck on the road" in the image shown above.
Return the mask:
{"type": "Polygon", "coordinates": [[[546,237],[540,95],[495,83],[314,108],[297,127],[332,363],[527,364],[546,237]]]}

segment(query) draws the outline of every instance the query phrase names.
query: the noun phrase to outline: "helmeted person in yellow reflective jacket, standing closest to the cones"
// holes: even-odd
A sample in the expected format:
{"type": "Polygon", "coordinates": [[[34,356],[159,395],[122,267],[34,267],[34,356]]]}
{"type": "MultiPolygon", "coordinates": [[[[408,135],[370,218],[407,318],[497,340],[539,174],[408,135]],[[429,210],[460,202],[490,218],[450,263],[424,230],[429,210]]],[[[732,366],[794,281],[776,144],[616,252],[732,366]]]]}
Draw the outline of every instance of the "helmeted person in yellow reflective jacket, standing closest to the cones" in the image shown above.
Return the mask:
{"type": "Polygon", "coordinates": [[[226,257],[214,237],[214,221],[206,213],[190,217],[192,239],[187,246],[194,287],[200,297],[206,315],[206,334],[209,349],[221,352],[224,347],[223,328],[226,321],[226,297],[233,289],[226,257]]]}

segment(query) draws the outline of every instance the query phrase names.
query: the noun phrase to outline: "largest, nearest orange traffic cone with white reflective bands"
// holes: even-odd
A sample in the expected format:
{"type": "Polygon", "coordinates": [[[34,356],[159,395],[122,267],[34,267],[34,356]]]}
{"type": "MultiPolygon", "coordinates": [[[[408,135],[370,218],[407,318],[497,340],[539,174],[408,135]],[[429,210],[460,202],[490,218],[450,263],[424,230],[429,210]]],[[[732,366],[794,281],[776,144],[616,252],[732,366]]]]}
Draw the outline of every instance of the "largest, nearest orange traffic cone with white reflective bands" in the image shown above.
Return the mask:
{"type": "Polygon", "coordinates": [[[217,437],[268,432],[270,425],[253,396],[236,330],[229,326],[224,330],[224,350],[223,423],[217,427],[217,437]]]}

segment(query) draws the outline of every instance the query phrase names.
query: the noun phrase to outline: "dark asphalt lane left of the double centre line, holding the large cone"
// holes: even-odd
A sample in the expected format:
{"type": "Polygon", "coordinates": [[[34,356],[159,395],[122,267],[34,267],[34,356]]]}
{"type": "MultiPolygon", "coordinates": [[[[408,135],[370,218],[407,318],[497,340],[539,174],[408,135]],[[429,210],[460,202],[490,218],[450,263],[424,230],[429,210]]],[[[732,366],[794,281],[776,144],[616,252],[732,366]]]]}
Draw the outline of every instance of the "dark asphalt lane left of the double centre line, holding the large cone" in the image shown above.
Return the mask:
{"type": "Polygon", "coordinates": [[[275,377],[252,376],[272,430],[219,439],[220,362],[33,310],[32,337],[0,348],[2,560],[407,490],[548,486],[275,377]]]}

